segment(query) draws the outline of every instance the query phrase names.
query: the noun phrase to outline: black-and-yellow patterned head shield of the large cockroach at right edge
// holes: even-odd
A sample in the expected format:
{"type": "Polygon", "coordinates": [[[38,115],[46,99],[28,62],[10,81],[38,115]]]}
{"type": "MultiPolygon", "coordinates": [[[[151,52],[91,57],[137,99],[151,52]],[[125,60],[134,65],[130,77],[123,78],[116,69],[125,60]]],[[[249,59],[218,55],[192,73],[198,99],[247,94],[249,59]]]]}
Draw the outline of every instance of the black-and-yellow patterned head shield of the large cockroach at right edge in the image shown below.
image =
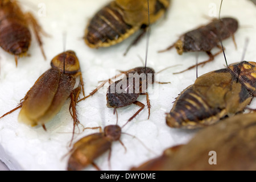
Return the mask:
{"type": "Polygon", "coordinates": [[[229,68],[246,88],[253,93],[253,96],[256,96],[256,63],[242,61],[241,63],[230,65],[229,68]]]}

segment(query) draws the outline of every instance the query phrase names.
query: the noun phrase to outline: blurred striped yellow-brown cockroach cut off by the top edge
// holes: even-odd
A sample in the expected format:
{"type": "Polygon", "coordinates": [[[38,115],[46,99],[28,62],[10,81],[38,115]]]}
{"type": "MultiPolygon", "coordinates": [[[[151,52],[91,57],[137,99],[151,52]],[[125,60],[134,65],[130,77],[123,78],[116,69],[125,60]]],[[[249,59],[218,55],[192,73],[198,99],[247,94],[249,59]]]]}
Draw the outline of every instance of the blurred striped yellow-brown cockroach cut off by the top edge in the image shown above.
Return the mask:
{"type": "MultiPolygon", "coordinates": [[[[152,12],[150,14],[151,23],[154,23],[166,13],[170,6],[170,0],[150,0],[149,5],[152,12]]],[[[112,1],[90,20],[85,30],[85,43],[90,48],[109,47],[122,42],[142,29],[142,33],[134,40],[132,44],[134,45],[146,32],[147,14],[147,1],[112,1]]]]}

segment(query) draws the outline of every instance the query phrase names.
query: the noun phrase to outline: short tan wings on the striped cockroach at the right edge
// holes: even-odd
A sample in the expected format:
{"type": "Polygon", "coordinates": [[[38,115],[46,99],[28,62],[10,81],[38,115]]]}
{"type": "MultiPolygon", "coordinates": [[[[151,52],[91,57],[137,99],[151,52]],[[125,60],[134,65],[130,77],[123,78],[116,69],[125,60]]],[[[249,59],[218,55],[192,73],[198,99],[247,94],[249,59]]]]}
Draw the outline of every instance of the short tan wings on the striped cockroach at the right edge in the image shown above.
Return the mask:
{"type": "Polygon", "coordinates": [[[204,97],[210,107],[225,109],[224,114],[228,115],[243,111],[253,98],[250,91],[229,69],[221,69],[197,78],[193,89],[204,97]]]}

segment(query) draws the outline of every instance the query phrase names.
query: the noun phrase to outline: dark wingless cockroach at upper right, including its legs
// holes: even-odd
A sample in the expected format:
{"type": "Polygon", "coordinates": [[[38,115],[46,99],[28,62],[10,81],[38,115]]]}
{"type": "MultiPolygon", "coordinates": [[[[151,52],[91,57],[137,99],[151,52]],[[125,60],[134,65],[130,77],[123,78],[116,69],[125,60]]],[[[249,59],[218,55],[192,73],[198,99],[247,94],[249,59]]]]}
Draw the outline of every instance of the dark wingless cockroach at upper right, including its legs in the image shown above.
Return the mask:
{"type": "MultiPolygon", "coordinates": [[[[172,48],[177,49],[177,53],[182,55],[183,52],[206,52],[209,56],[207,61],[193,65],[182,72],[189,69],[195,68],[197,65],[204,65],[214,60],[214,57],[222,53],[222,47],[220,46],[221,40],[227,39],[230,36],[233,37],[234,44],[234,33],[238,29],[238,21],[234,18],[221,18],[213,19],[212,22],[205,26],[201,26],[196,30],[189,31],[180,36],[179,40],[167,49],[159,52],[165,52],[172,48]],[[216,54],[212,54],[212,49],[217,47],[220,49],[216,54]]],[[[179,73],[182,73],[179,72],[179,73]]],[[[176,74],[176,73],[175,73],[176,74]]]]}

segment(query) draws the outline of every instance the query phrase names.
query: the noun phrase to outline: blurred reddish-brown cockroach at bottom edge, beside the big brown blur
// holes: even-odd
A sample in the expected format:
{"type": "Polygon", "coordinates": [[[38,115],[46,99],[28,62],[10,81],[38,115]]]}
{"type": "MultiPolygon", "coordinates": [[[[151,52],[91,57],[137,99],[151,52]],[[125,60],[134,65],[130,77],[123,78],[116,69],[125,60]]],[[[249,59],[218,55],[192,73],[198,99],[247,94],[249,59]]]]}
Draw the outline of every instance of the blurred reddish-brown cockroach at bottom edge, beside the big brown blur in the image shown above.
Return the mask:
{"type": "Polygon", "coordinates": [[[179,151],[180,147],[183,146],[182,144],[179,146],[174,146],[167,148],[164,150],[163,154],[159,156],[158,158],[151,159],[148,162],[143,163],[139,167],[133,167],[130,170],[131,171],[158,171],[159,167],[162,167],[164,163],[166,163],[166,160],[170,157],[172,157],[175,152],[179,151]]]}

